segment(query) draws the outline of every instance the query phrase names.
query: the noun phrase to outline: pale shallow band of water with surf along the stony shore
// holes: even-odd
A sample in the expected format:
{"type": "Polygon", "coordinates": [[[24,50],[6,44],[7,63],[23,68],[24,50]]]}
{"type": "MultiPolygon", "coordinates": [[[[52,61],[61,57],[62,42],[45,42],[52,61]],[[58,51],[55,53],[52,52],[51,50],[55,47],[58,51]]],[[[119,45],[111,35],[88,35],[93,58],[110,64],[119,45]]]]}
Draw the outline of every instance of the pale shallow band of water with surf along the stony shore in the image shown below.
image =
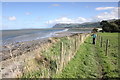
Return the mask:
{"type": "Polygon", "coordinates": [[[50,32],[39,32],[39,33],[33,33],[33,34],[24,34],[16,37],[11,37],[6,40],[3,40],[3,45],[9,44],[9,43],[16,43],[16,42],[24,42],[24,41],[31,41],[31,40],[38,40],[43,38],[49,38],[49,37],[55,37],[56,33],[66,32],[69,29],[63,29],[63,30],[56,30],[56,31],[50,31],[50,32]]]}

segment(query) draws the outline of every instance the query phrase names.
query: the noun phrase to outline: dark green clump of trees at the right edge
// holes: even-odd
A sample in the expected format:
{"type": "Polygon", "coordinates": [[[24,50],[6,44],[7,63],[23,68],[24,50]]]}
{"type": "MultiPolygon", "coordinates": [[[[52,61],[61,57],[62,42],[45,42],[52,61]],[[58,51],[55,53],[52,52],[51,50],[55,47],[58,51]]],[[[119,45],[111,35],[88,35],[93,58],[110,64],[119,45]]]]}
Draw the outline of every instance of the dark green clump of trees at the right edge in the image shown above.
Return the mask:
{"type": "Polygon", "coordinates": [[[120,19],[114,21],[101,21],[100,25],[104,32],[120,32],[120,19]]]}

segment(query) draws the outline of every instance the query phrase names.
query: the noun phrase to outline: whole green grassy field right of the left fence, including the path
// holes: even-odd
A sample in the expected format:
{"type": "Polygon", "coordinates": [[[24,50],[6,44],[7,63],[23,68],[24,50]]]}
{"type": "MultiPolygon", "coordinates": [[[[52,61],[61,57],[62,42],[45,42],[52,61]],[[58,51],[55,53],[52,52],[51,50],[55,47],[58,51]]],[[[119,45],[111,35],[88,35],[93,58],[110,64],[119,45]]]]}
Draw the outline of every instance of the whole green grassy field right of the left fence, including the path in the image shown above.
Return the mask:
{"type": "Polygon", "coordinates": [[[89,37],[80,45],[75,57],[60,74],[53,78],[116,78],[118,68],[118,33],[98,33],[97,44],[91,44],[89,37]],[[101,47],[100,37],[103,38],[101,47]],[[106,40],[109,40],[106,55],[106,40]]]}

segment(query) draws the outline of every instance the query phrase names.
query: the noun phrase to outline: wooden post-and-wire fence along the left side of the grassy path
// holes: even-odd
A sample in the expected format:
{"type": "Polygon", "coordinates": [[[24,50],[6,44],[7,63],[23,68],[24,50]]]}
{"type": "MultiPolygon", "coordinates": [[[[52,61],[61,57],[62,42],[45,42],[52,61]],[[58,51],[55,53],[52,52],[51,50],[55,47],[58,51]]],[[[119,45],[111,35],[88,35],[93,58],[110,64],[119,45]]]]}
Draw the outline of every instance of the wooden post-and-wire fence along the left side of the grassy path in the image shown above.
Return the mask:
{"type": "Polygon", "coordinates": [[[60,42],[60,61],[56,61],[59,62],[56,73],[61,72],[71,58],[75,56],[80,44],[84,42],[86,37],[88,37],[88,34],[77,34],[69,39],[67,45],[64,42],[60,42]]]}

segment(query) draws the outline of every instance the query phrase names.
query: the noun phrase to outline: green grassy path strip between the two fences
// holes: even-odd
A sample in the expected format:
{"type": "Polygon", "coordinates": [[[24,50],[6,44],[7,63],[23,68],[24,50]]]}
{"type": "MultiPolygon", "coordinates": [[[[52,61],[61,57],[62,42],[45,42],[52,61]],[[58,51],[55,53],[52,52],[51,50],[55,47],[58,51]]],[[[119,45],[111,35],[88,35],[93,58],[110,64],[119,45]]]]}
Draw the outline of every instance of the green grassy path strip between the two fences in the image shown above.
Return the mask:
{"type": "Polygon", "coordinates": [[[98,63],[92,53],[93,45],[90,44],[90,38],[82,44],[75,57],[69,62],[61,74],[55,75],[55,78],[94,78],[99,77],[98,63]]]}

